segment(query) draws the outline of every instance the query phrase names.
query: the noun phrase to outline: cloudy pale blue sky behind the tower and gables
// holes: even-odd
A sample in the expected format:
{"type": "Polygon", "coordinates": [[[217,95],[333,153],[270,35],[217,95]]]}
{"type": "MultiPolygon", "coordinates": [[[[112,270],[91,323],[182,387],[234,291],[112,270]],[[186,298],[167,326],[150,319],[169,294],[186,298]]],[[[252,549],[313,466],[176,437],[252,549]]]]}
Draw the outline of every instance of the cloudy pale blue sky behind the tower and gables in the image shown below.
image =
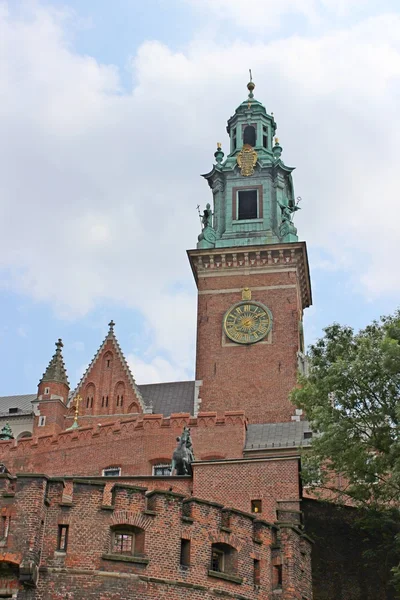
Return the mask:
{"type": "Polygon", "coordinates": [[[185,250],[249,67],[297,167],[306,340],[396,309],[396,2],[0,1],[0,37],[0,395],[58,337],[74,385],[111,318],[138,383],[193,377],[185,250]]]}

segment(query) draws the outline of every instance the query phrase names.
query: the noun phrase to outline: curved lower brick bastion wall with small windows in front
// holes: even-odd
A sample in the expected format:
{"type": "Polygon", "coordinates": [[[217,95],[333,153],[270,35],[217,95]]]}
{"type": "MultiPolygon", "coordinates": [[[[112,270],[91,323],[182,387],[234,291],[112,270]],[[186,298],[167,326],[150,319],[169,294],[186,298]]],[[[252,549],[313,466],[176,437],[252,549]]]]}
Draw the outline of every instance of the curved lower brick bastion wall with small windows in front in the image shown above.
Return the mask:
{"type": "Polygon", "coordinates": [[[158,599],[168,594],[177,600],[252,600],[271,598],[274,588],[286,600],[311,598],[310,543],[297,523],[271,524],[222,504],[126,482],[114,482],[112,503],[104,504],[105,479],[66,483],[39,475],[0,478],[1,510],[12,507],[0,560],[10,565],[10,589],[21,588],[18,598],[158,599]],[[68,527],[63,551],[61,526],[68,527]],[[129,555],[113,549],[113,532],[121,527],[135,531],[135,552],[129,555]],[[186,566],[180,564],[182,539],[190,543],[186,566]],[[212,568],[213,544],[233,557],[223,572],[212,568]],[[274,581],[273,561],[282,565],[281,584],[274,581]]]}

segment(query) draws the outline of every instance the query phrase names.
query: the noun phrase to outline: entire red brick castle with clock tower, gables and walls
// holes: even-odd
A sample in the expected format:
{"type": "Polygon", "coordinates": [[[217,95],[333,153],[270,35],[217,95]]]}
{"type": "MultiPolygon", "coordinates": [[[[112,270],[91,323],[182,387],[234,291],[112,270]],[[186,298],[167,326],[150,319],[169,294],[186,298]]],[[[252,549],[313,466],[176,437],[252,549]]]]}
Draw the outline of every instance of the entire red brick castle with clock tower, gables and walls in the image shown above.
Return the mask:
{"type": "Polygon", "coordinates": [[[37,394],[0,399],[19,427],[0,441],[0,597],[312,599],[299,451],[312,433],[289,400],[307,250],[274,117],[248,92],[188,251],[195,381],[138,385],[111,321],[75,390],[59,340],[37,394]]]}

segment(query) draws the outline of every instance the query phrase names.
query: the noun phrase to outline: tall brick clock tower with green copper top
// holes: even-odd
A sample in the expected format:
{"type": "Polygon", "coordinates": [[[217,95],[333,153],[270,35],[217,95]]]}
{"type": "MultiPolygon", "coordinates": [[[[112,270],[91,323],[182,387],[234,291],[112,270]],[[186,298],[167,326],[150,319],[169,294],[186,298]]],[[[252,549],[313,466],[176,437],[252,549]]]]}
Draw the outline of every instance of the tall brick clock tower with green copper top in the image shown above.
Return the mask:
{"type": "Polygon", "coordinates": [[[303,357],[303,310],[311,304],[292,167],[272,114],[248,98],[228,120],[230,152],[218,144],[203,175],[213,194],[189,260],[198,287],[197,408],[244,410],[250,423],[298,420],[289,400],[303,357]]]}

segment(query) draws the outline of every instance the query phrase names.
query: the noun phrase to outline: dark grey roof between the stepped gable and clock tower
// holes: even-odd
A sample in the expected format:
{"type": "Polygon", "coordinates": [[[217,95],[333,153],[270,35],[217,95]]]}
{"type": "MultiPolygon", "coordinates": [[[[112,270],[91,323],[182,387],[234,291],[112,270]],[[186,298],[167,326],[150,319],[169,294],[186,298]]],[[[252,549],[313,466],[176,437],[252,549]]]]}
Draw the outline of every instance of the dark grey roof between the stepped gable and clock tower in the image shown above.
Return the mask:
{"type": "Polygon", "coordinates": [[[188,412],[193,415],[194,381],[173,381],[140,385],[143,400],[153,407],[154,414],[168,416],[172,413],[188,412]]]}

